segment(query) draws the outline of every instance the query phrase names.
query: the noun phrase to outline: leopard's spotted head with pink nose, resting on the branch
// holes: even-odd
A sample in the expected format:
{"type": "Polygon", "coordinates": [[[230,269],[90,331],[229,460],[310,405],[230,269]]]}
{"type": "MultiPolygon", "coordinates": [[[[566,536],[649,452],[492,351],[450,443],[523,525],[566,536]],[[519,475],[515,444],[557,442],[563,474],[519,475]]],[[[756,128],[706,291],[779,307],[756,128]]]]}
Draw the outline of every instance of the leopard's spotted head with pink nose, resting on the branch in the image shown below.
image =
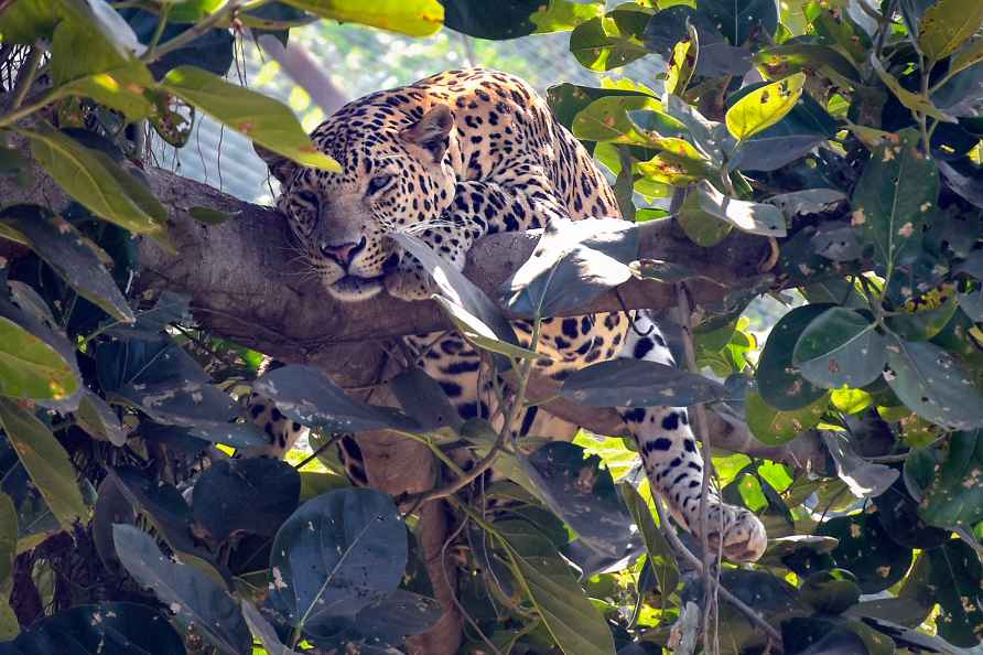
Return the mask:
{"type": "Polygon", "coordinates": [[[311,135],[341,173],[306,169],[257,147],[281,183],[277,207],[299,266],[342,301],[369,299],[406,255],[390,236],[441,224],[456,178],[445,161],[451,110],[386,103],[342,110],[311,135]]]}

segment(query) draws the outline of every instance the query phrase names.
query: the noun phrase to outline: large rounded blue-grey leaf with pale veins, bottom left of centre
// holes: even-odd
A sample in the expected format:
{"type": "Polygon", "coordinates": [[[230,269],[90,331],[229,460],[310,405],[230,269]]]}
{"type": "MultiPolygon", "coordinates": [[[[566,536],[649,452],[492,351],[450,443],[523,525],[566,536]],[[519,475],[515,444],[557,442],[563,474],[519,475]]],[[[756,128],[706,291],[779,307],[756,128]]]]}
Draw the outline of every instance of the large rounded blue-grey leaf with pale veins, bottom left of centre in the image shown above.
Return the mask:
{"type": "Polygon", "coordinates": [[[295,631],[330,638],[399,586],[407,528],[392,500],[345,488],[307,501],[280,527],[270,558],[270,602],[295,631]]]}

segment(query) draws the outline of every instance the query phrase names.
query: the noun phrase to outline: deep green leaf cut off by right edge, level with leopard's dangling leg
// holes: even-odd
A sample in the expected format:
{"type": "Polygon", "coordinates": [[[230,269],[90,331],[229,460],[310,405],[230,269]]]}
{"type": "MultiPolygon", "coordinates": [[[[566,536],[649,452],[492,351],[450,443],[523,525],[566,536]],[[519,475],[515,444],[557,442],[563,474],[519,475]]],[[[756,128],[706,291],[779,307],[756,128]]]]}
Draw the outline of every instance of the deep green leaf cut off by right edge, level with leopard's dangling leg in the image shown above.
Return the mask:
{"type": "Polygon", "coordinates": [[[983,431],[955,432],[918,515],[929,525],[972,527],[983,519],[983,431]]]}

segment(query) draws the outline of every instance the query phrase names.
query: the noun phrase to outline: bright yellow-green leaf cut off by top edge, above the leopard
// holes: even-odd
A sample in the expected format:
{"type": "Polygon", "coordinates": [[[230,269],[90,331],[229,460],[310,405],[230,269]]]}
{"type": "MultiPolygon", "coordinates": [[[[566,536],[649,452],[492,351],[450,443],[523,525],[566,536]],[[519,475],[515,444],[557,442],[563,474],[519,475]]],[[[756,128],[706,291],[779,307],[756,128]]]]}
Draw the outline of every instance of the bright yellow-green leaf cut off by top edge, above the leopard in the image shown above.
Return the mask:
{"type": "Polygon", "coordinates": [[[444,24],[444,7],[438,0],[281,1],[321,18],[342,23],[361,23],[410,36],[430,36],[444,24]]]}

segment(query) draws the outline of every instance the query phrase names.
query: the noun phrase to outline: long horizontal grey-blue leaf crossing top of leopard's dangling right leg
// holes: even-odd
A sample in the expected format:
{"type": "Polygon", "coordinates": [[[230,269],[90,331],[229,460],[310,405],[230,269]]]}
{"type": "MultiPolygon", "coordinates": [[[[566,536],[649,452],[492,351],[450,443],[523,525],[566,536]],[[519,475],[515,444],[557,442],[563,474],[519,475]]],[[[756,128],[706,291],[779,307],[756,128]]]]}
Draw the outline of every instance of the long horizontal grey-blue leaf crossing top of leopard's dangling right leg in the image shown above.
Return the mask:
{"type": "Polygon", "coordinates": [[[619,357],[574,371],[560,395],[587,407],[689,407],[721,400],[726,389],[674,366],[619,357]]]}

